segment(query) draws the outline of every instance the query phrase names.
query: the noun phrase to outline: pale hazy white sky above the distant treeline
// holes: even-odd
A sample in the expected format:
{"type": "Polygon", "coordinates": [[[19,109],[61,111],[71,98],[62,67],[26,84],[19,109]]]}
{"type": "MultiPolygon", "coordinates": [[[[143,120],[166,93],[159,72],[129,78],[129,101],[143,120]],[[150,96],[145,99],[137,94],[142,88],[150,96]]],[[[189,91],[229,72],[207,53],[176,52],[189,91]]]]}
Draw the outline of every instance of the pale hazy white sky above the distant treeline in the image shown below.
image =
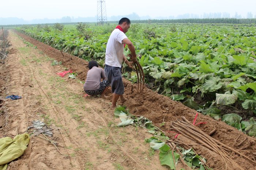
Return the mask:
{"type": "MultiPolygon", "coordinates": [[[[256,0],[106,0],[107,16],[177,16],[185,13],[235,12],[246,17],[256,15],[256,0]]],[[[25,20],[56,19],[63,16],[90,17],[97,15],[97,0],[3,0],[0,18],[18,17],[25,20]]]]}

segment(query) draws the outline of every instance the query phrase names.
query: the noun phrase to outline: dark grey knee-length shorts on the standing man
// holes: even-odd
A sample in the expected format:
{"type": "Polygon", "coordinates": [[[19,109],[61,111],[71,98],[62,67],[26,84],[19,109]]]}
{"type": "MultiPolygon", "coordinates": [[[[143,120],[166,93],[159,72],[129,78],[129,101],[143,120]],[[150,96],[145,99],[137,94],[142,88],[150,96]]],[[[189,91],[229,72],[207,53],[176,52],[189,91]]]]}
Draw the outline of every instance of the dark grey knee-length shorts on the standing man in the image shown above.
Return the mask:
{"type": "Polygon", "coordinates": [[[112,93],[124,94],[124,84],[120,67],[105,65],[105,74],[111,85],[112,93]]]}

